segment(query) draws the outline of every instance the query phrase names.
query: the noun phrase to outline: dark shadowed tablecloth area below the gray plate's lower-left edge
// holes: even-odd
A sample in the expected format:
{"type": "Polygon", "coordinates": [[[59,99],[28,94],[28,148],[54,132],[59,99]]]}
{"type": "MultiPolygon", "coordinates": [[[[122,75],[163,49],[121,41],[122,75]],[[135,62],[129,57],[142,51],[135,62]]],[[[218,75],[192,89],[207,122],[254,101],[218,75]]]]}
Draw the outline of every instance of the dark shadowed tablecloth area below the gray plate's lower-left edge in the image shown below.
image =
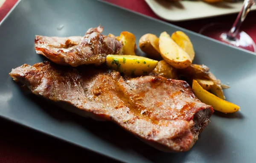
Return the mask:
{"type": "Polygon", "coordinates": [[[0,163],[119,163],[0,118],[0,163]]]}

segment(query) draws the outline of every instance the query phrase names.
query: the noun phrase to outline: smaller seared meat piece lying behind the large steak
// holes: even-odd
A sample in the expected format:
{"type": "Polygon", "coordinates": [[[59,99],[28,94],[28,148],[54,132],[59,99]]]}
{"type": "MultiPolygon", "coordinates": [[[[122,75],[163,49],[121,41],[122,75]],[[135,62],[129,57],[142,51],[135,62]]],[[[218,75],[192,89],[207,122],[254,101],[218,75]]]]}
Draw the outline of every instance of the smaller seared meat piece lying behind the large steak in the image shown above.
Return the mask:
{"type": "Polygon", "coordinates": [[[103,27],[90,28],[84,37],[35,36],[35,51],[59,65],[101,65],[108,54],[118,54],[122,44],[102,35],[103,27]]]}

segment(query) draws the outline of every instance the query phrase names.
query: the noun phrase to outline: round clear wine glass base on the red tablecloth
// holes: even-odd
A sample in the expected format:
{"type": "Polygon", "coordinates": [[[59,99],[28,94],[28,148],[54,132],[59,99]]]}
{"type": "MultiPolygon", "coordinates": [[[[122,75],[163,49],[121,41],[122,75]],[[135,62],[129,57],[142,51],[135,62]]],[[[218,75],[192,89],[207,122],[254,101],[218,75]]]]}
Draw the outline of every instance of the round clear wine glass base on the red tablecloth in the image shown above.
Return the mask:
{"type": "Polygon", "coordinates": [[[255,42],[244,31],[240,31],[234,38],[228,37],[227,32],[230,30],[230,26],[228,24],[212,23],[202,28],[199,33],[226,44],[256,52],[255,42]]]}

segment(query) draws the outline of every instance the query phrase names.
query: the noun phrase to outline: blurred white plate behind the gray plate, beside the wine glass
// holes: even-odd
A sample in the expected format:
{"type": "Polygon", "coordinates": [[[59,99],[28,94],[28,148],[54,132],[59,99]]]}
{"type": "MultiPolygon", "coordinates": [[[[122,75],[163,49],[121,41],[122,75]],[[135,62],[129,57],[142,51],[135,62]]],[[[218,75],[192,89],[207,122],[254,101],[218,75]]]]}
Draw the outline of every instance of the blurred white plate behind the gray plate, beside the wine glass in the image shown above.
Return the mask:
{"type": "MultiPolygon", "coordinates": [[[[148,6],[164,20],[183,21],[215,17],[226,14],[238,13],[243,6],[243,2],[208,4],[201,0],[189,1],[181,0],[172,3],[168,0],[145,0],[148,6]]],[[[256,10],[254,5],[251,10],[256,10]]]]}

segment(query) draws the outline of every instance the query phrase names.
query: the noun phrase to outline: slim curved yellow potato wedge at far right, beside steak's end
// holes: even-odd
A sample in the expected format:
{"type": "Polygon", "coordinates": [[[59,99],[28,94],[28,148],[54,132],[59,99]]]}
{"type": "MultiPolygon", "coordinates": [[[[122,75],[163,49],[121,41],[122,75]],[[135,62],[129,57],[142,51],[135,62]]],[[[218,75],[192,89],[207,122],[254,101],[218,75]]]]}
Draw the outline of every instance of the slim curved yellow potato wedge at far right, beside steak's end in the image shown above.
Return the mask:
{"type": "Polygon", "coordinates": [[[211,105],[214,110],[224,113],[232,113],[239,111],[240,107],[231,102],[225,101],[217,96],[204,90],[196,80],[193,80],[192,90],[197,98],[205,104],[211,105]]]}

